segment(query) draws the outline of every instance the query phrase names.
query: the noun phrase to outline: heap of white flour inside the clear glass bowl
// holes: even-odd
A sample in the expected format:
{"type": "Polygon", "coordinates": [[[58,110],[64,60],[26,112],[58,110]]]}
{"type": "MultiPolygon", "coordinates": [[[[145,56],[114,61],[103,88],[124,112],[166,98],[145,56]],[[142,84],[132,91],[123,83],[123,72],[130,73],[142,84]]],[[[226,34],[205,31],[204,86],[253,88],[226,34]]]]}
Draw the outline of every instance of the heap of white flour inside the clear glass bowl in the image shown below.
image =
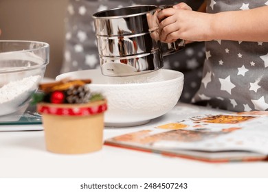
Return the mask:
{"type": "Polygon", "coordinates": [[[41,75],[34,75],[2,86],[0,88],[0,115],[7,115],[16,111],[21,104],[30,98],[40,80],[41,75]]]}

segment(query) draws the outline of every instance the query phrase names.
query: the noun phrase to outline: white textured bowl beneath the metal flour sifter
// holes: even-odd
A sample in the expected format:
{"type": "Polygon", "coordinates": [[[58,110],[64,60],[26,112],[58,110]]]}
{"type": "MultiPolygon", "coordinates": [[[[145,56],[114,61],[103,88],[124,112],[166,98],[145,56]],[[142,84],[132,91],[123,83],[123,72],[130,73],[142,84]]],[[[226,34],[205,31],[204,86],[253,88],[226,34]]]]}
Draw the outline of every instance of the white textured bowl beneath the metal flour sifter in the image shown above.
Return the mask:
{"type": "Polygon", "coordinates": [[[105,126],[142,125],[171,110],[183,88],[183,73],[159,69],[129,77],[108,77],[100,69],[74,71],[58,75],[56,80],[91,79],[92,92],[102,93],[108,100],[105,126]]]}

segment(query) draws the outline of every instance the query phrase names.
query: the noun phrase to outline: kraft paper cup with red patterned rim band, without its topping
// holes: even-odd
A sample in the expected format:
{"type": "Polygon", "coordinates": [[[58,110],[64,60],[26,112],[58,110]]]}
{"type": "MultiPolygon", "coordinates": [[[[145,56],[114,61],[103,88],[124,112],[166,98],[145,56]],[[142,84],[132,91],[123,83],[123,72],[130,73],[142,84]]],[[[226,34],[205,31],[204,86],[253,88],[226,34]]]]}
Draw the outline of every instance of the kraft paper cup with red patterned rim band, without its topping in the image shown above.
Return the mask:
{"type": "Polygon", "coordinates": [[[49,152],[84,154],[102,149],[107,101],[88,104],[40,103],[45,143],[49,152]]]}

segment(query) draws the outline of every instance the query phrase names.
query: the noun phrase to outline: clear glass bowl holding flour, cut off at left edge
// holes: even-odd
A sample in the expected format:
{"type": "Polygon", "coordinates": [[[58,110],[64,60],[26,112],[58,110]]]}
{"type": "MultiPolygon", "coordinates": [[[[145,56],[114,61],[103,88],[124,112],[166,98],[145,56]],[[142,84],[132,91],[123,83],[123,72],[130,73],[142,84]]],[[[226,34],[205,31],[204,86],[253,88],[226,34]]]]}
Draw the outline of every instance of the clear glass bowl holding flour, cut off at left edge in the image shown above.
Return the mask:
{"type": "Polygon", "coordinates": [[[22,115],[49,62],[49,45],[0,40],[0,117],[22,115]]]}

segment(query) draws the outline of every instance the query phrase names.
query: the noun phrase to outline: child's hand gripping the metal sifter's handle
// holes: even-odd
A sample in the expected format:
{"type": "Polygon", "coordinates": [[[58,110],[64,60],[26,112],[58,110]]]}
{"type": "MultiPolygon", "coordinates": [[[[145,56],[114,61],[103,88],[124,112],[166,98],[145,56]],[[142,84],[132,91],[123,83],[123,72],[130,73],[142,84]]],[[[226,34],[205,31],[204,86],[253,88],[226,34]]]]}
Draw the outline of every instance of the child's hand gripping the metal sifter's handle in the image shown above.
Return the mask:
{"type": "Polygon", "coordinates": [[[211,40],[210,14],[194,12],[186,3],[179,3],[173,8],[158,13],[160,40],[166,43],[177,39],[203,41],[211,40]]]}

